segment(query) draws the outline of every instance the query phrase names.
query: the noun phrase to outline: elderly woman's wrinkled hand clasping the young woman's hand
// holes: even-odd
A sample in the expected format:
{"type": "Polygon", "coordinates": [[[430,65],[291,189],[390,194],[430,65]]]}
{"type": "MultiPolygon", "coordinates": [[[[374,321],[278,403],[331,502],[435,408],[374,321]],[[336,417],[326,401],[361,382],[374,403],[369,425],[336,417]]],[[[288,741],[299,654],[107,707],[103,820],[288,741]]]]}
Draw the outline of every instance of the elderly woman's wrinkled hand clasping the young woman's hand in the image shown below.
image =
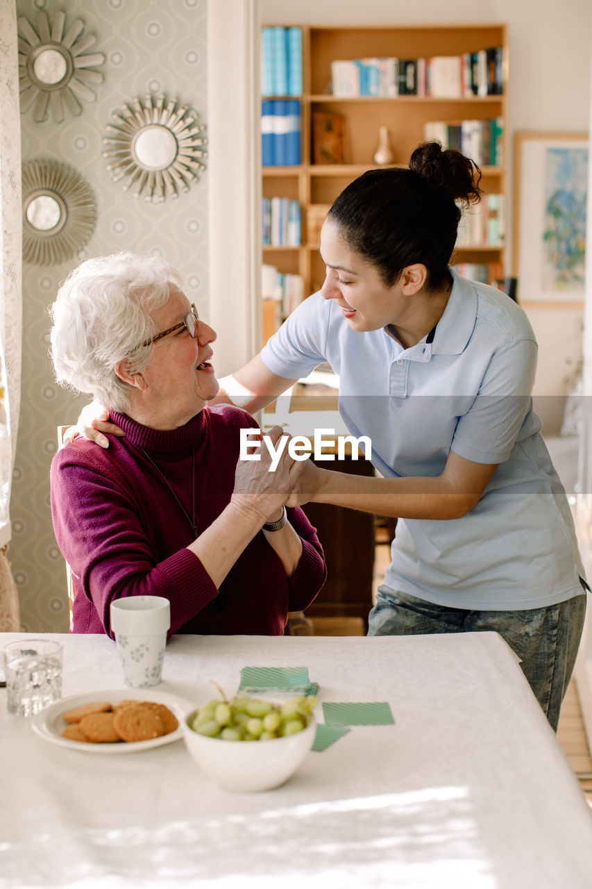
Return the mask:
{"type": "MultiPolygon", "coordinates": [[[[267,435],[276,448],[279,438],[284,435],[284,429],[274,426],[267,435]]],[[[254,512],[264,522],[273,521],[281,513],[305,464],[303,461],[293,460],[287,446],[284,447],[275,470],[271,469],[271,455],[262,441],[257,447],[252,447],[252,453],[258,454],[260,460],[239,460],[236,464],[232,502],[250,515],[254,512]]]]}

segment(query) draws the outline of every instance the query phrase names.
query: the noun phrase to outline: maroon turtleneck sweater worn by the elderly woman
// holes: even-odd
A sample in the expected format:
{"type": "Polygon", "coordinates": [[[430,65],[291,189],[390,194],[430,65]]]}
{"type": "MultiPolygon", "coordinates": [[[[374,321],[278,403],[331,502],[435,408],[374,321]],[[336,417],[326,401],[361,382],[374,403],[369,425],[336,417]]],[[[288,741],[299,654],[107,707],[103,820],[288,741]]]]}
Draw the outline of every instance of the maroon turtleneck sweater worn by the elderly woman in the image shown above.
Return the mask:
{"type": "Polygon", "coordinates": [[[195,540],[188,518],[141,450],[189,517],[195,476],[196,525],[204,531],[230,501],[239,429],[256,427],[252,417],[219,405],[172,431],[116,412],[111,419],[124,438],[108,436],[105,450],[79,437],[52,461],[53,527],[76,589],[73,631],[113,636],[113,599],[164,596],[171,601],[171,634],[283,634],[287,613],[310,605],[325,577],[323,549],[302,510],[288,509],[302,540],[292,577],[258,533],[216,589],[185,549],[195,540]]]}

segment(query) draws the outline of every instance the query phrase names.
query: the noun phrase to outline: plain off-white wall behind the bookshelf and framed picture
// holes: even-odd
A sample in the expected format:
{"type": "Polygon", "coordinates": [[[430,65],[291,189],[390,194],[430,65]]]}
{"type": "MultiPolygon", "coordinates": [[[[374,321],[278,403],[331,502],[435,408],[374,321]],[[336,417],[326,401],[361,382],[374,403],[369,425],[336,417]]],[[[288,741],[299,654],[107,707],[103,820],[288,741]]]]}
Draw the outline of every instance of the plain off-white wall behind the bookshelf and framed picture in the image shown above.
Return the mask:
{"type": "MultiPolygon", "coordinates": [[[[260,0],[269,24],[372,25],[385,22],[501,21],[508,24],[508,195],[513,188],[511,148],[516,130],[587,131],[590,106],[590,0],[260,0]]],[[[512,213],[508,206],[508,271],[512,213]]],[[[535,385],[537,410],[552,434],[559,429],[562,400],[580,356],[583,307],[531,308],[539,340],[535,385]]]]}

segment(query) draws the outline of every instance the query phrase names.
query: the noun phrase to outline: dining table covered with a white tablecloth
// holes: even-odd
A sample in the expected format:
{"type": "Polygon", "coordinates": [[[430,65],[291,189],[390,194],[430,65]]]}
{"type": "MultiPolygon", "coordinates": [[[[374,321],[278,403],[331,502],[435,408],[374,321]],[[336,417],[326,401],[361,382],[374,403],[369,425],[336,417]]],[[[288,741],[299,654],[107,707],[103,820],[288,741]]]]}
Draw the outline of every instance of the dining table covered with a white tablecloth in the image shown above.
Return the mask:
{"type": "MultiPolygon", "coordinates": [[[[65,695],[122,687],[108,637],[55,637],[65,695]]],[[[182,741],[62,749],[0,691],[0,886],[589,889],[592,816],[495,633],[178,636],[157,689],[199,703],[244,666],[303,665],[321,701],[388,701],[396,725],[355,726],[263,794],[216,788],[182,741]]]]}

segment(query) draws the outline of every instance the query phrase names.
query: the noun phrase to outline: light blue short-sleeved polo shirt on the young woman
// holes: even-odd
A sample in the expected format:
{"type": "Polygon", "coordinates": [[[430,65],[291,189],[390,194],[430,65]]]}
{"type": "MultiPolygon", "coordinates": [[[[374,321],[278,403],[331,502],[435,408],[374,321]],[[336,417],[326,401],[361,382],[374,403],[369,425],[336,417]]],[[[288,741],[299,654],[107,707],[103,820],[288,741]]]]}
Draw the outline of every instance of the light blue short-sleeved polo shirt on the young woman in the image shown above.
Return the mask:
{"type": "MultiPolygon", "coordinates": [[[[537,344],[522,308],[450,268],[434,339],[403,348],[388,328],[358,333],[335,300],[305,300],[261,357],[287,379],[329,362],[340,414],[370,436],[385,477],[437,476],[449,451],[498,463],[481,500],[452,520],[399,519],[390,589],[436,605],[541,608],[582,592],[583,568],[564,488],[532,412],[537,344]]],[[[321,421],[322,422],[322,421],[321,421]]]]}

